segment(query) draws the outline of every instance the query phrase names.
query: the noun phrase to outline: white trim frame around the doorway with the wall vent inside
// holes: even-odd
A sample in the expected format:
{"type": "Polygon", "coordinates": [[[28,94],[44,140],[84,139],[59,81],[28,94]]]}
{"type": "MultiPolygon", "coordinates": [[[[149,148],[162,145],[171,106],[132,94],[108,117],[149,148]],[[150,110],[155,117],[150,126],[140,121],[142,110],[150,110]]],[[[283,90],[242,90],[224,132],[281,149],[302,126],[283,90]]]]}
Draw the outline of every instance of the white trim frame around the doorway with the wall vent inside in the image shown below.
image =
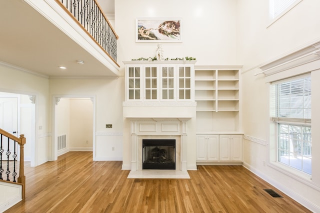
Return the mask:
{"type": "Polygon", "coordinates": [[[57,144],[55,143],[55,138],[57,137],[57,134],[55,132],[55,105],[56,101],[58,101],[59,98],[90,98],[92,101],[92,107],[93,107],[93,125],[92,125],[92,155],[93,160],[95,160],[95,95],[52,95],[52,136],[51,136],[51,160],[57,160],[58,157],[58,151],[57,151],[57,144]]]}

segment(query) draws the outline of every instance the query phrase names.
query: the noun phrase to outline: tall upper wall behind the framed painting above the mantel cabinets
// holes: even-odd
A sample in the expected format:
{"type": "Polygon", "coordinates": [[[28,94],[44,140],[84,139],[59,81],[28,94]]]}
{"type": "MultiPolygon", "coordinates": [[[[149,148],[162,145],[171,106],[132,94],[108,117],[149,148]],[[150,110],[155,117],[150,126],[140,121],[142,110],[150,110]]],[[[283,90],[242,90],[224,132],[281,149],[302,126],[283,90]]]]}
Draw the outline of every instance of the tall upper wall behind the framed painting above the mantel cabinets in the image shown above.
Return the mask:
{"type": "Polygon", "coordinates": [[[161,43],[164,58],[192,56],[196,65],[235,64],[235,0],[115,0],[118,63],[155,56],[157,43],[135,42],[135,18],[182,19],[182,42],[161,43]]]}

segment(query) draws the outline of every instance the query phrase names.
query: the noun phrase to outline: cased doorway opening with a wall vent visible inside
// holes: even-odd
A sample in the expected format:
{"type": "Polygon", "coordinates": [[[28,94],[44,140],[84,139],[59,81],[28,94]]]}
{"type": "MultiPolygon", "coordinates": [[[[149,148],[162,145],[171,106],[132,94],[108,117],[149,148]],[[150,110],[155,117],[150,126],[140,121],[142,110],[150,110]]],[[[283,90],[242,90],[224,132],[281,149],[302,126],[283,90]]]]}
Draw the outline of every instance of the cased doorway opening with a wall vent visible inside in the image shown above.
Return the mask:
{"type": "Polygon", "coordinates": [[[94,151],[93,99],[88,96],[53,97],[53,160],[68,151],[94,151]]]}

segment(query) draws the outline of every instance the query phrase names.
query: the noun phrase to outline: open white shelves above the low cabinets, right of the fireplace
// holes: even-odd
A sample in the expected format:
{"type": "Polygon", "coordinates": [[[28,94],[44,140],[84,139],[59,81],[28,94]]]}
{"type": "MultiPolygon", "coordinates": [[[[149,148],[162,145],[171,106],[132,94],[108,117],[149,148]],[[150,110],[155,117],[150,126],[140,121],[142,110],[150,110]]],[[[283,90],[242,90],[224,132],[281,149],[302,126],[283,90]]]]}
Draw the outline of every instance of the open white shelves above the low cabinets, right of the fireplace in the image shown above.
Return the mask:
{"type": "Polygon", "coordinates": [[[197,132],[238,132],[241,66],[195,66],[197,132]]]}

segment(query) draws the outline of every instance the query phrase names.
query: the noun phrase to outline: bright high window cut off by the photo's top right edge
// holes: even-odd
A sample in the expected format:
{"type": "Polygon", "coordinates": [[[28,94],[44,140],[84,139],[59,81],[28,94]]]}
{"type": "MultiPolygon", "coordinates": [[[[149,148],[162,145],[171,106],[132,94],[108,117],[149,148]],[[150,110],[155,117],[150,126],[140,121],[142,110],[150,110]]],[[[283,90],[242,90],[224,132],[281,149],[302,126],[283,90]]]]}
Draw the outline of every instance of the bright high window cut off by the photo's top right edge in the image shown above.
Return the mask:
{"type": "MultiPolygon", "coordinates": [[[[282,17],[285,13],[290,11],[294,6],[300,3],[302,0],[287,0],[287,3],[282,4],[282,7],[274,8],[274,4],[280,0],[269,0],[269,19],[270,22],[267,25],[269,27],[272,23],[282,17]],[[277,11],[275,11],[277,10],[277,11]]],[[[284,1],[284,0],[282,0],[284,1]]]]}

